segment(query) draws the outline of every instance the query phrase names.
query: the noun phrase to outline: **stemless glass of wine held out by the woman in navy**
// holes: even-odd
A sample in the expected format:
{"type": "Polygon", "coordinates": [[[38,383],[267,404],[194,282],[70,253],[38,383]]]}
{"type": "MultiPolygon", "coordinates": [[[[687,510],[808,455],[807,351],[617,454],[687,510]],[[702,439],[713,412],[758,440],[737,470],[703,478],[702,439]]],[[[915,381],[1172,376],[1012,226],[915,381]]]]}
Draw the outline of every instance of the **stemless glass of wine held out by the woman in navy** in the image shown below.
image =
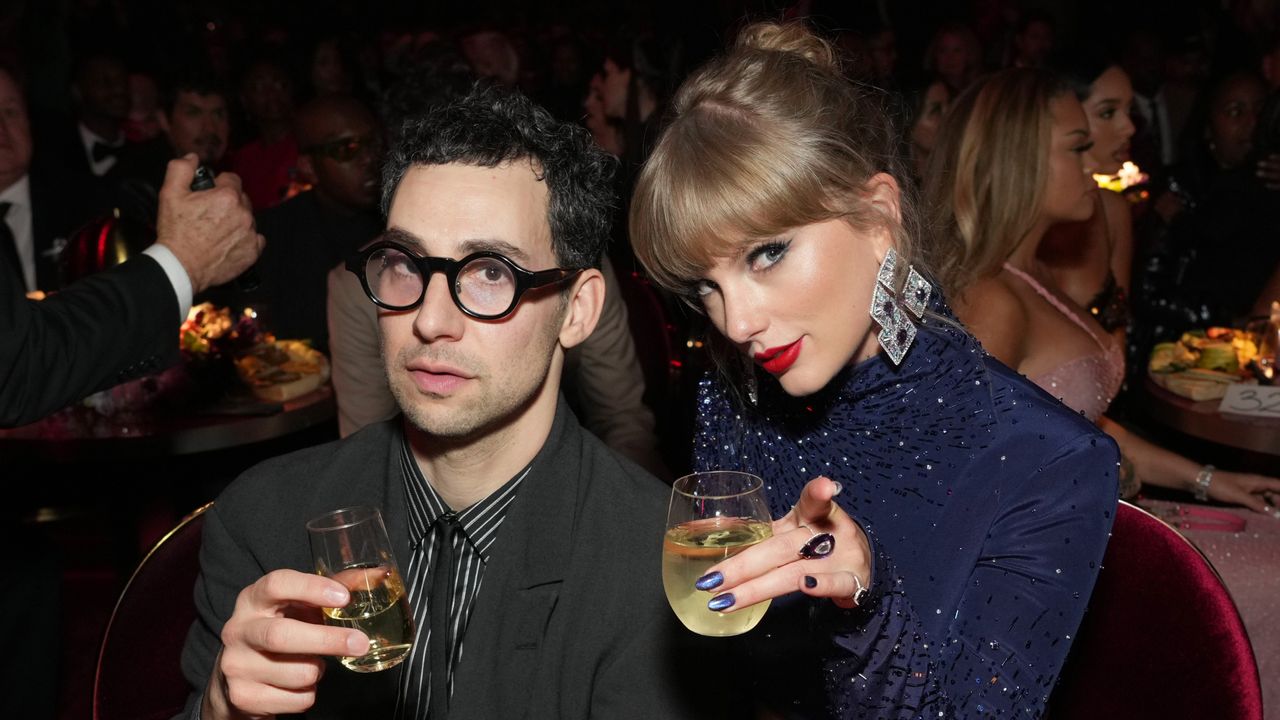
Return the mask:
{"type": "Polygon", "coordinates": [[[694,588],[712,565],[773,534],[764,480],[750,473],[713,470],[676,480],[662,543],[667,602],[700,635],[737,635],[755,626],[769,601],[733,612],[707,607],[710,593],[694,588]]]}

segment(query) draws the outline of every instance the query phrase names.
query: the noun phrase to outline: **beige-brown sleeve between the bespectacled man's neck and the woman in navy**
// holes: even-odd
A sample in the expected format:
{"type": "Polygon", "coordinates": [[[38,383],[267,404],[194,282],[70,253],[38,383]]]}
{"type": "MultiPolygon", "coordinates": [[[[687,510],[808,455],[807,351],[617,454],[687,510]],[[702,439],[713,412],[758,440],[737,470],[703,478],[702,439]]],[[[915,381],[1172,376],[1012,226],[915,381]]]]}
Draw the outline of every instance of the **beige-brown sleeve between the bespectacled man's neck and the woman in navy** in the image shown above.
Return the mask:
{"type": "Polygon", "coordinates": [[[582,342],[579,357],[571,365],[582,425],[604,445],[650,473],[666,477],[658,455],[653,411],[644,404],[644,374],[627,323],[627,307],[608,259],[602,272],[604,307],[595,331],[582,342]]]}

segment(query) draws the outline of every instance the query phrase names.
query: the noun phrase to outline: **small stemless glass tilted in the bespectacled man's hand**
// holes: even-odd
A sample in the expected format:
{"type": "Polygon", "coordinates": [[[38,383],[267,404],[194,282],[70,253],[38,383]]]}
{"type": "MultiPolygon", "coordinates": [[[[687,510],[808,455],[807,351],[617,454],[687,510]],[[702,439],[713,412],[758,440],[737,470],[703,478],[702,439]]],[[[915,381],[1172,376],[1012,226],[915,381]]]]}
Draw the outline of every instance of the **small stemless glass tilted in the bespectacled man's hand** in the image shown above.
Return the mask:
{"type": "Polygon", "coordinates": [[[326,625],[355,628],[369,635],[369,652],[343,657],[356,673],[401,664],[413,647],[413,616],[383,515],[376,507],[344,507],[307,523],[316,573],[351,592],[346,607],[325,607],[326,625]]]}

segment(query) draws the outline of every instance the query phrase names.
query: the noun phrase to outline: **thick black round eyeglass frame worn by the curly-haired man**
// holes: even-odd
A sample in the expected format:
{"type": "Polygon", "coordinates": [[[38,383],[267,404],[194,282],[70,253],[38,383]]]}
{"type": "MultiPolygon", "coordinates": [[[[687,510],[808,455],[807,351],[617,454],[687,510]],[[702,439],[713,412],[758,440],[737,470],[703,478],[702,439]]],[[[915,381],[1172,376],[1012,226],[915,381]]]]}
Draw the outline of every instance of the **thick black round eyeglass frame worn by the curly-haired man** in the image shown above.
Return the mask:
{"type": "Polygon", "coordinates": [[[472,252],[461,260],[454,260],[452,258],[434,258],[430,255],[419,255],[417,252],[404,247],[403,245],[390,241],[381,240],[378,241],[364,250],[358,250],[349,256],[347,256],[347,272],[355,274],[360,278],[360,284],[365,288],[365,295],[378,305],[387,310],[394,310],[397,313],[403,313],[406,310],[412,310],[422,305],[426,300],[426,288],[431,284],[431,275],[440,273],[444,279],[449,282],[449,297],[453,299],[453,305],[462,311],[463,315],[468,318],[475,318],[476,320],[500,320],[516,311],[516,306],[520,305],[521,299],[524,299],[525,292],[535,290],[539,287],[547,287],[549,284],[556,284],[572,279],[582,273],[586,268],[550,268],[547,270],[526,270],[516,264],[515,260],[507,258],[500,252],[494,252],[492,250],[481,250],[479,252],[472,252]],[[422,292],[419,293],[417,300],[408,305],[392,305],[383,300],[379,300],[374,291],[369,287],[369,277],[365,270],[369,266],[369,259],[372,258],[374,252],[384,249],[397,250],[403,252],[406,258],[413,261],[420,275],[422,275],[422,292]],[[462,268],[467,266],[470,263],[480,259],[492,259],[502,263],[512,270],[512,277],[516,279],[516,290],[511,296],[511,305],[507,306],[502,313],[495,313],[493,315],[484,315],[468,309],[458,299],[458,273],[462,268]]]}

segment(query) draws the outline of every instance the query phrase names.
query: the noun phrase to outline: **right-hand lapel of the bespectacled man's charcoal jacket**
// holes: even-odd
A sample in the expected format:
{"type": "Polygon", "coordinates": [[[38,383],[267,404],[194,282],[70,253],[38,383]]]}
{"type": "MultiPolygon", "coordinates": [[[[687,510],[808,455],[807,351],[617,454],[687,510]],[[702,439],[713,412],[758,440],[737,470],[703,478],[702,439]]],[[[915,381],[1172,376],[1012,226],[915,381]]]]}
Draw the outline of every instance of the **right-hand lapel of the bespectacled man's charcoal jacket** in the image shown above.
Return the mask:
{"type": "Polygon", "coordinates": [[[522,717],[568,570],[577,525],[581,428],[563,398],[507,511],[453,675],[451,717],[522,717]]]}

